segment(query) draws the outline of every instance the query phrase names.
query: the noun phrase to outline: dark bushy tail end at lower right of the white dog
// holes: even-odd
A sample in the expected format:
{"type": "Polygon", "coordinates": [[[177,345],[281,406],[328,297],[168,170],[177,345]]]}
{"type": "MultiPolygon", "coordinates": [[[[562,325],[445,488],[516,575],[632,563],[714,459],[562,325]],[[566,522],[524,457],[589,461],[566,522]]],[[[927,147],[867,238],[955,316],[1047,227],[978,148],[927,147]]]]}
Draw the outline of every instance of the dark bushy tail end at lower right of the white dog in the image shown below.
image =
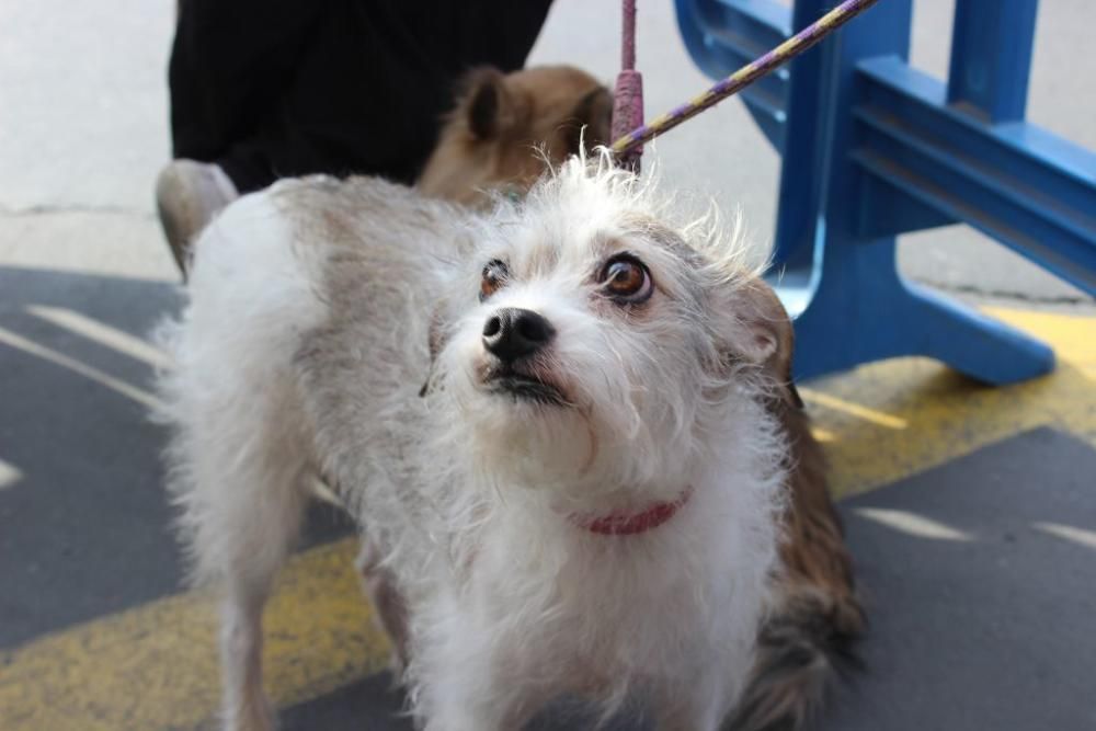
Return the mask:
{"type": "Polygon", "coordinates": [[[861,666],[864,610],[853,594],[814,589],[786,596],[758,637],[754,672],[723,731],[798,731],[827,686],[861,666]]]}

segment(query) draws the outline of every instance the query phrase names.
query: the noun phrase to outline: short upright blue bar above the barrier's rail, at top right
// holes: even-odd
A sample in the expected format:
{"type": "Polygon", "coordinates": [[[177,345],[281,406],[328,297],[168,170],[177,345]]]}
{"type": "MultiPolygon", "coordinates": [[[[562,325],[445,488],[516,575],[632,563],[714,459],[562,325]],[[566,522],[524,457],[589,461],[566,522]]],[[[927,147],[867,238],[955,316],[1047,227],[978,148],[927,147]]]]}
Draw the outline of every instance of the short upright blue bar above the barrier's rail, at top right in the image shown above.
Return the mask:
{"type": "Polygon", "coordinates": [[[1039,0],[959,0],[948,102],[990,122],[1017,122],[1027,106],[1039,0]]]}

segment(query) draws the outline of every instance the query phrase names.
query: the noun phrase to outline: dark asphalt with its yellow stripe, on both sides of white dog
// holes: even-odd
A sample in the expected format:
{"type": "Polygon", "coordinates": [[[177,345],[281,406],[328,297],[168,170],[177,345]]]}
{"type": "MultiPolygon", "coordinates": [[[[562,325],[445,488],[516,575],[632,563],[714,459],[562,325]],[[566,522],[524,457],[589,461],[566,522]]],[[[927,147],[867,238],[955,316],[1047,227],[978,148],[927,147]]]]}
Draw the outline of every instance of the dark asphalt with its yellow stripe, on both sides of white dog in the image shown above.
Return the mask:
{"type": "MultiPolygon", "coordinates": [[[[0,290],[0,729],[202,728],[213,606],[181,589],[147,416],[162,356],[144,336],[179,290],[13,267],[0,290]]],[[[801,389],[872,616],[868,670],[821,728],[1091,728],[1096,320],[993,313],[1058,372],[991,389],[899,359],[801,389]]],[[[353,552],[318,504],[266,617],[286,728],[408,728],[353,552]]]]}

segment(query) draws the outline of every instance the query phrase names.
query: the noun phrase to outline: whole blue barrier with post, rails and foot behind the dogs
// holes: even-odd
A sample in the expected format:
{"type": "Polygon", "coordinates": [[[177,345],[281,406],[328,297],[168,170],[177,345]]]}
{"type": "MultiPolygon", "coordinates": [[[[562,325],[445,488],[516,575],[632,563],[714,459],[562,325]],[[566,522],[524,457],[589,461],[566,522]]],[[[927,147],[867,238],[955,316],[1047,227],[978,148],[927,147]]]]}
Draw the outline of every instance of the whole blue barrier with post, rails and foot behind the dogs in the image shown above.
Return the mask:
{"type": "MultiPolygon", "coordinates": [[[[832,4],[676,0],[715,77],[832,4]]],[[[963,222],[1096,295],[1096,155],[1024,121],[1037,4],[957,0],[947,83],[909,66],[911,0],[882,0],[744,92],[783,155],[774,271],[797,376],[898,355],[992,384],[1053,368],[1042,343],[906,282],[894,254],[899,233],[963,222]]]]}

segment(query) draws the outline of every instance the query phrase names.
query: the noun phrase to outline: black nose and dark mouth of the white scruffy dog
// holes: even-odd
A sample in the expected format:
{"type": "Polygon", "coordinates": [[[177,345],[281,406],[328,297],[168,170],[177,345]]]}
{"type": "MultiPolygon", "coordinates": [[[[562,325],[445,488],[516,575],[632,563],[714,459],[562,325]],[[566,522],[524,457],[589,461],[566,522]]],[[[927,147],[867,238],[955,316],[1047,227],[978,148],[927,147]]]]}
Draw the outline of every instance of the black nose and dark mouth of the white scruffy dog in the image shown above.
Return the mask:
{"type": "Polygon", "coordinates": [[[533,310],[503,308],[483,324],[483,350],[490,355],[483,384],[492,393],[514,400],[564,406],[568,400],[560,389],[535,376],[530,361],[551,343],[556,329],[544,316],[533,310]]]}

